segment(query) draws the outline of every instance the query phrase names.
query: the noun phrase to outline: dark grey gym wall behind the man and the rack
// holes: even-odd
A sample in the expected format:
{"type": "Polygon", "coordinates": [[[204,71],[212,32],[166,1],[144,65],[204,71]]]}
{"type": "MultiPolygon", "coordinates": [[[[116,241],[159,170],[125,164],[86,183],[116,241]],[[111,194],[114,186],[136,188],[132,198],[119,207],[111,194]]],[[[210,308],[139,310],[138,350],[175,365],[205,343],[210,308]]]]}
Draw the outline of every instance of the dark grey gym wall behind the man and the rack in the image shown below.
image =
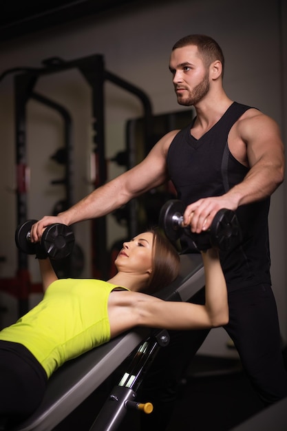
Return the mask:
{"type": "MultiPolygon", "coordinates": [[[[222,45],[226,56],[224,87],[231,98],[259,107],[275,118],[286,133],[287,19],[284,0],[242,0],[234,7],[229,0],[134,1],[123,8],[90,14],[67,23],[56,23],[32,34],[0,41],[1,72],[12,67],[39,67],[43,59],[59,56],[77,59],[103,54],[107,70],[147,92],[155,114],[182,109],[176,103],[168,71],[173,43],[189,33],[206,33],[222,45]]],[[[0,277],[14,277],[17,269],[14,246],[16,207],[14,189],[14,100],[12,76],[0,83],[0,277]]],[[[64,103],[74,119],[75,200],[92,189],[90,181],[91,118],[89,88],[78,72],[47,76],[37,91],[64,103]]],[[[107,158],[125,146],[125,122],[142,116],[139,101],[112,84],[105,85],[107,158]]],[[[29,216],[51,213],[61,198],[61,187],[50,187],[59,175],[51,154],[61,145],[61,123],[54,113],[34,101],[28,107],[28,160],[31,168],[29,216]]],[[[108,164],[109,178],[123,171],[108,164]]],[[[270,211],[270,242],[275,295],[279,304],[281,332],[286,338],[286,198],[282,185],[274,194],[270,211]]],[[[108,221],[109,244],[123,236],[113,218],[108,221]]],[[[89,255],[89,223],[76,227],[76,238],[89,255]]],[[[39,277],[33,259],[33,280],[39,277]]],[[[89,276],[87,262],[85,274],[89,276]]],[[[3,295],[2,295],[3,296],[3,295]]],[[[1,297],[1,293],[0,293],[1,297]]],[[[32,298],[32,301],[36,300],[32,298]]],[[[9,318],[13,319],[12,299],[9,318]]]]}

